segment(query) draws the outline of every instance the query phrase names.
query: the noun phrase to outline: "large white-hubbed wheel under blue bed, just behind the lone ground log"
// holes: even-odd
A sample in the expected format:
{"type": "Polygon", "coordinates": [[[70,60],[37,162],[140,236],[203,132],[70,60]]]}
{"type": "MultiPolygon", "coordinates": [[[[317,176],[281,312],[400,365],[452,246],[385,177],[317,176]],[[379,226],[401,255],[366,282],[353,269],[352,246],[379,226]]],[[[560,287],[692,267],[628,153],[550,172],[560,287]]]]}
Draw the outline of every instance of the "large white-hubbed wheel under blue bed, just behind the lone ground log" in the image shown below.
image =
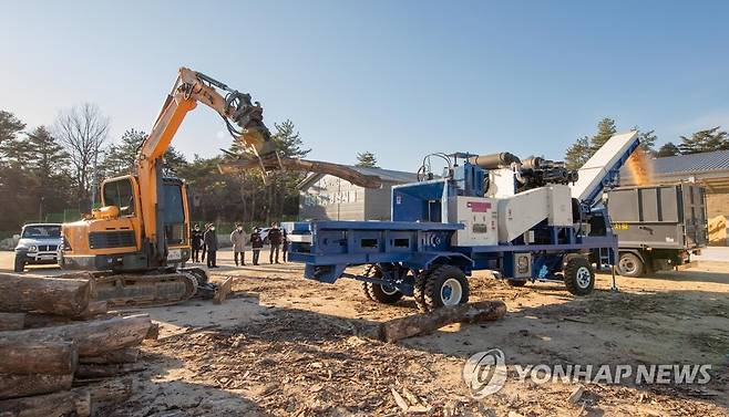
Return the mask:
{"type": "Polygon", "coordinates": [[[424,299],[429,311],[465,304],[469,302],[469,280],[456,267],[438,265],[428,273],[424,299]]]}

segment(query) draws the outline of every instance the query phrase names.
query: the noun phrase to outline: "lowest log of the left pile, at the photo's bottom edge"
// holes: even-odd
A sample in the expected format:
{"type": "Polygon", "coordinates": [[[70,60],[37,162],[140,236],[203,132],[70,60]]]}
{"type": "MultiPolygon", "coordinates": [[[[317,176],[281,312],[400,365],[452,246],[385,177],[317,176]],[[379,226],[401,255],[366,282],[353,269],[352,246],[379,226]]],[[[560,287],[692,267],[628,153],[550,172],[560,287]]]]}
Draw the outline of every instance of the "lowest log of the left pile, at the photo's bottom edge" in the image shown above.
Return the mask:
{"type": "Polygon", "coordinates": [[[1,417],[88,417],[90,396],[72,390],[0,400],[1,417]]]}

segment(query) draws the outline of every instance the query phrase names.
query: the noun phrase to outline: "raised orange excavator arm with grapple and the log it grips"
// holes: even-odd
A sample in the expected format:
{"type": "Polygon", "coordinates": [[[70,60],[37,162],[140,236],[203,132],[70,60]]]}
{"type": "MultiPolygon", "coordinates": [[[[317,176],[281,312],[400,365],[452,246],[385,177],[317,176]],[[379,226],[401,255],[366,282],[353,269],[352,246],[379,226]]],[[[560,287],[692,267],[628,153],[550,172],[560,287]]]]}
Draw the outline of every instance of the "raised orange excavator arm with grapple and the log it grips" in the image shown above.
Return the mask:
{"type": "Polygon", "coordinates": [[[264,124],[263,108],[251,103],[249,94],[229,88],[224,83],[203,73],[181,67],[177,80],[167,95],[154,127],[144,140],[137,155],[141,206],[144,239],[152,244],[150,256],[157,261],[166,257],[164,236],[164,198],[162,185],[162,157],[170,148],[179,125],[188,112],[202,103],[217,112],[225,122],[234,140],[253,154],[255,158],[240,158],[230,164],[226,171],[259,168],[316,171],[331,174],[368,188],[379,188],[380,178],[363,175],[349,167],[304,159],[281,159],[270,132],[264,124]]]}

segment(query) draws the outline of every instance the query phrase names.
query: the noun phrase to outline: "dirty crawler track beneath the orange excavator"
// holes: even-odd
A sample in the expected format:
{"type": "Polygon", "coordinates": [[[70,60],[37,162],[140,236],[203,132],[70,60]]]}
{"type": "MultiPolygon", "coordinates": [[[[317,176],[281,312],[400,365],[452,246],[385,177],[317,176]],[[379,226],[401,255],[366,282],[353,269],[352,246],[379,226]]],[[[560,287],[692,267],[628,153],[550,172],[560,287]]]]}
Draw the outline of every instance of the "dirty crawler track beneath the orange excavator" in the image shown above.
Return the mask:
{"type": "Polygon", "coordinates": [[[94,274],[94,299],[114,306],[175,304],[195,295],[196,275],[193,271],[94,274]]]}

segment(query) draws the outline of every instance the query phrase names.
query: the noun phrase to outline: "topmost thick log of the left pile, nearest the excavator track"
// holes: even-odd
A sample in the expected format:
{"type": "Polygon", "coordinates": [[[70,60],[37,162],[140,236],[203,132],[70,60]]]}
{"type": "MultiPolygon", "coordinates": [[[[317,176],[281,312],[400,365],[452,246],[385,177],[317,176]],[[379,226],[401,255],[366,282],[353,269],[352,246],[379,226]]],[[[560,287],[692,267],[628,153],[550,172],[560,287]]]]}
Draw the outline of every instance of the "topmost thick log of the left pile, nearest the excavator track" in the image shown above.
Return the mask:
{"type": "Polygon", "coordinates": [[[0,273],[0,311],[78,316],[89,306],[92,282],[0,273]]]}

